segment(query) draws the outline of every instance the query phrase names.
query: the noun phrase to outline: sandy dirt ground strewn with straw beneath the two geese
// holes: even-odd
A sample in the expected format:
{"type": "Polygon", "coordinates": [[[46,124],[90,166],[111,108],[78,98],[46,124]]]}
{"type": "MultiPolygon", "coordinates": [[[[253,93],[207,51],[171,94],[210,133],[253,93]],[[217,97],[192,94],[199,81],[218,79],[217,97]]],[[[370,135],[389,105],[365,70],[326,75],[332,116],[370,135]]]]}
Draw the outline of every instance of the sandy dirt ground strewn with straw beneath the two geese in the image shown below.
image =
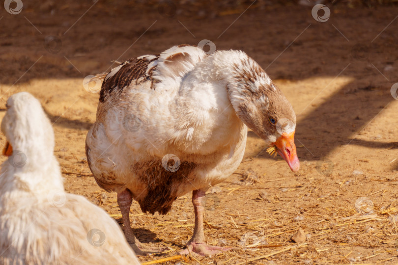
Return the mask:
{"type": "MultiPolygon", "coordinates": [[[[96,185],[86,163],[98,94],[83,79],[109,71],[113,60],[203,39],[217,50],[243,50],[296,111],[301,169],[292,173],[248,132],[241,165],[209,191],[205,213],[208,243],[236,249],[167,264],[398,264],[398,101],[391,95],[398,7],[327,4],[330,18],[318,22],[313,4],[156,3],[24,1],[19,14],[1,7],[0,118],[11,94],[37,97],[54,123],[66,190],[120,223],[115,194],[96,185]],[[291,241],[299,229],[306,238],[300,244],[291,241]]],[[[133,202],[138,238],[170,247],[142,262],[184,247],[194,223],[190,197],[165,216],[143,214],[133,202]]]]}

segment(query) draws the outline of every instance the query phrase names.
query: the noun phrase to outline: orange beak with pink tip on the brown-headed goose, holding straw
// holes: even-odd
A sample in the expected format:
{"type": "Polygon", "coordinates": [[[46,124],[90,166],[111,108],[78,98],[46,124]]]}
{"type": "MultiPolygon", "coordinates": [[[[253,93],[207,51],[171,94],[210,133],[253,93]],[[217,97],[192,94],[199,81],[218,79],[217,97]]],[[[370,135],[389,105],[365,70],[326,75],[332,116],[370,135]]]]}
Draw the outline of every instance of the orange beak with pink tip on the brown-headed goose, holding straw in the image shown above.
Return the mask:
{"type": "Polygon", "coordinates": [[[294,144],[294,132],[284,132],[275,143],[278,153],[287,162],[291,171],[297,172],[300,169],[300,161],[296,153],[296,145],[294,144]]]}

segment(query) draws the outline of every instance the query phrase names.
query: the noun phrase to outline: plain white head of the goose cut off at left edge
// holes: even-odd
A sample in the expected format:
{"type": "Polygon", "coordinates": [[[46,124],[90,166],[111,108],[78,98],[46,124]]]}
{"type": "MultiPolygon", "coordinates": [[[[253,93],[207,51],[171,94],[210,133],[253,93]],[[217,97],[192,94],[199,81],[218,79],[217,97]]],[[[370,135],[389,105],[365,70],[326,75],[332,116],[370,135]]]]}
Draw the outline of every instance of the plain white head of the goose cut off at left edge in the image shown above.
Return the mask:
{"type": "Polygon", "coordinates": [[[6,137],[4,166],[13,172],[40,171],[54,162],[54,132],[40,102],[27,92],[8,98],[1,122],[6,137]]]}

